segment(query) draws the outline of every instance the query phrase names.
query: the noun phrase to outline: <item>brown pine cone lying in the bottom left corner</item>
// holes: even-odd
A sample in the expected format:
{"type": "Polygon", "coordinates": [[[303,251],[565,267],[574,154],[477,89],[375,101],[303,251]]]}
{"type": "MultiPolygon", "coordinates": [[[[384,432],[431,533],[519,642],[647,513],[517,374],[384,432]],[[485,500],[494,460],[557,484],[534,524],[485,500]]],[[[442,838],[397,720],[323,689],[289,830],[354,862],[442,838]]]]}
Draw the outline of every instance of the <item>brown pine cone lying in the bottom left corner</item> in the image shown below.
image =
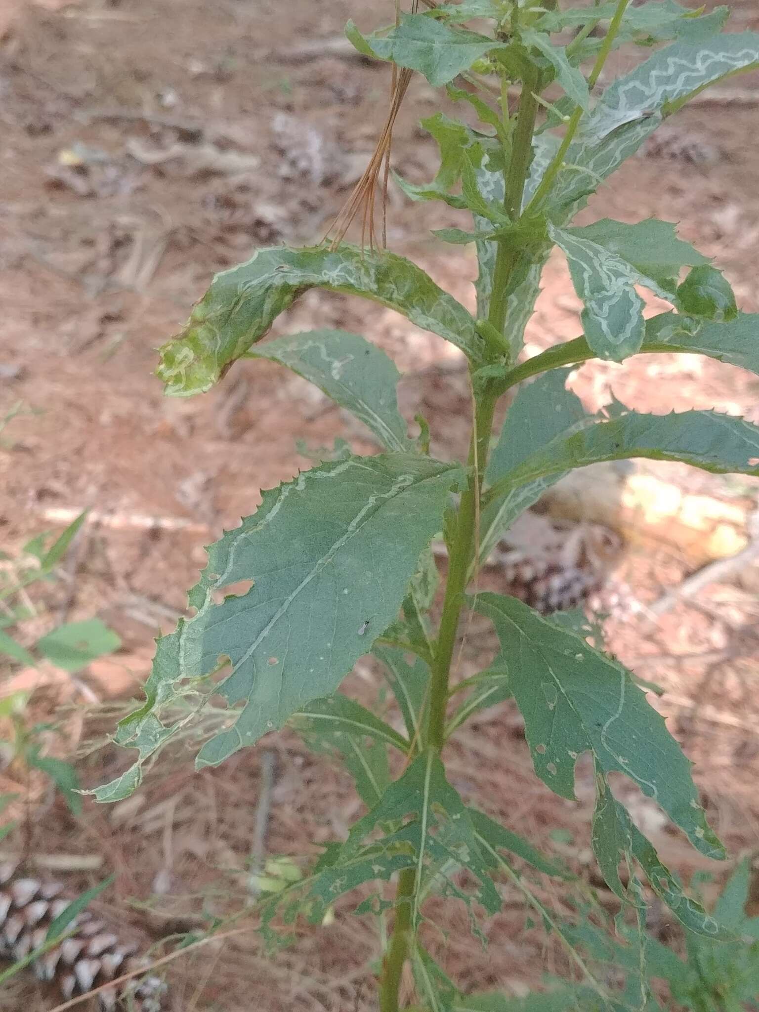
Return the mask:
{"type": "MultiPolygon", "coordinates": [[[[13,864],[0,864],[0,958],[22,959],[43,945],[49,927],[71,902],[63,892],[60,882],[23,877],[13,864]]],[[[141,966],[137,946],[122,944],[115,931],[86,910],[67,930],[73,933],[31,963],[37,980],[57,984],[65,1000],[141,966]]],[[[134,978],[100,992],[98,1008],[164,1012],[165,991],[156,977],[134,978]]]]}

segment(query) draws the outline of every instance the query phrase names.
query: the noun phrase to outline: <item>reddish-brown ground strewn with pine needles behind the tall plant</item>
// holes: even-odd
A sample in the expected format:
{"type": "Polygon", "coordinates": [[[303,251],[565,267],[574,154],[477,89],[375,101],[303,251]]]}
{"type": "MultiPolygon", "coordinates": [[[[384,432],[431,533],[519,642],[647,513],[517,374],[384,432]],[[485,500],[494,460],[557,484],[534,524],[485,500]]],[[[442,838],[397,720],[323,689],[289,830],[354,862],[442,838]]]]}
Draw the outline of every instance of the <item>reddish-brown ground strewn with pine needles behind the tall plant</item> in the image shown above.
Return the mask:
{"type": "MultiPolygon", "coordinates": [[[[110,517],[87,530],[73,599],[65,584],[46,592],[51,621],[69,601],[73,614],[99,614],[121,635],[115,666],[99,668],[101,677],[93,672],[91,679],[105,701],[90,704],[84,721],[76,692],[48,690],[38,702],[40,713],[52,711],[51,700],[79,713],[71,737],[80,743],[82,777],[94,783],[122,762],[121,755],[94,747],[124,711],[107,697],[115,687],[132,691],[145,676],[152,637],[183,608],[204,562],[202,545],[252,512],[261,488],[310,463],[297,451],[297,439],[318,452],[347,432],[358,451],[372,449],[305,384],[266,364],[239,363],[216,391],[190,401],[164,399],[151,373],[155,347],[177,329],[215,270],[244,259],[256,244],[321,237],[371,149],[388,77],[340,56],[286,59],[297,43],[337,35],[356,13],[349,0],[222,0],[213,8],[198,0],[71,6],[50,0],[14,7],[0,15],[0,32],[6,32],[0,48],[0,418],[18,402],[25,413],[0,437],[0,531],[4,546],[13,549],[55,526],[51,518],[62,510],[90,506],[110,517]],[[312,145],[304,171],[303,140],[299,148],[292,139],[308,130],[316,132],[319,165],[314,168],[312,145]],[[149,164],[178,144],[188,145],[188,157],[149,164]],[[191,160],[198,151],[204,167],[191,160]],[[77,161],[82,164],[72,165],[77,161]],[[148,529],[135,526],[146,516],[155,521],[148,529]],[[186,526],[174,529],[174,521],[186,526]]],[[[759,28],[751,0],[734,7],[737,27],[759,28]]],[[[753,78],[731,83],[748,89],[749,97],[759,84],[753,78]]],[[[415,178],[428,177],[434,167],[434,148],[415,122],[436,102],[415,80],[399,120],[396,165],[415,178]]],[[[742,308],[756,312],[756,116],[754,101],[686,109],[678,131],[716,149],[716,160],[692,165],[638,157],[602,188],[584,220],[656,215],[680,222],[683,238],[726,269],[742,308]]],[[[473,259],[425,238],[427,229],[452,224],[459,224],[455,213],[409,205],[396,193],[389,241],[472,305],[473,259]]],[[[528,353],[580,331],[579,304],[559,258],[549,265],[543,288],[528,353]]],[[[337,296],[303,299],[277,331],[319,326],[367,334],[407,372],[455,361],[443,342],[395,314],[337,296]]],[[[410,404],[418,397],[416,382],[413,375],[404,381],[410,404]]],[[[691,356],[587,365],[576,389],[592,407],[613,390],[644,410],[713,406],[759,421],[754,376],[691,356]]],[[[439,452],[466,444],[466,391],[427,392],[439,452]],[[451,412],[451,398],[460,411],[451,412]]],[[[756,496],[752,483],[677,474],[721,496],[756,496]]],[[[622,572],[644,603],[684,575],[683,561],[664,551],[629,555],[622,572]]],[[[733,854],[759,844],[758,586],[754,577],[744,589],[711,587],[659,620],[643,611],[608,623],[611,649],[667,689],[657,705],[696,761],[696,778],[733,854]],[[685,663],[683,654],[696,656],[685,663]]],[[[493,649],[487,625],[473,620],[460,674],[482,667],[493,649]]],[[[375,675],[360,668],[348,688],[370,698],[374,685],[375,675]]],[[[85,856],[102,862],[102,873],[117,869],[108,909],[123,916],[124,902],[134,900],[135,921],[155,939],[201,926],[203,911],[225,914],[245,903],[261,750],[194,774],[190,746],[159,762],[132,800],[114,809],[87,803],[78,820],[59,802],[30,793],[35,851],[73,855],[73,867],[75,857],[85,856]]],[[[290,734],[265,747],[276,755],[270,852],[310,854],[313,844],[341,838],[358,811],[347,777],[290,734]]],[[[469,726],[449,760],[467,797],[576,866],[587,864],[590,773],[583,767],[579,802],[551,795],[531,773],[508,706],[469,726]],[[572,833],[571,845],[550,836],[557,826],[572,833]]],[[[12,786],[12,774],[6,779],[12,786]]],[[[0,789],[8,789],[5,782],[0,789]]],[[[663,829],[657,811],[642,803],[637,808],[681,873],[700,866],[663,829]]],[[[72,875],[72,884],[91,883],[99,873],[72,875]]],[[[561,912],[561,895],[544,888],[561,912]]],[[[447,943],[429,939],[468,989],[520,994],[544,969],[567,971],[553,941],[524,929],[521,899],[508,890],[505,899],[504,913],[487,927],[487,952],[468,938],[460,911],[448,917],[447,943]]],[[[182,957],[168,976],[182,1010],[354,1012],[373,1007],[365,965],[376,955],[373,924],[349,920],[339,909],[334,924],[304,930],[276,958],[242,934],[182,957]]],[[[0,1009],[8,1012],[22,1002],[52,1007],[49,996],[20,980],[0,994],[0,1009]]]]}

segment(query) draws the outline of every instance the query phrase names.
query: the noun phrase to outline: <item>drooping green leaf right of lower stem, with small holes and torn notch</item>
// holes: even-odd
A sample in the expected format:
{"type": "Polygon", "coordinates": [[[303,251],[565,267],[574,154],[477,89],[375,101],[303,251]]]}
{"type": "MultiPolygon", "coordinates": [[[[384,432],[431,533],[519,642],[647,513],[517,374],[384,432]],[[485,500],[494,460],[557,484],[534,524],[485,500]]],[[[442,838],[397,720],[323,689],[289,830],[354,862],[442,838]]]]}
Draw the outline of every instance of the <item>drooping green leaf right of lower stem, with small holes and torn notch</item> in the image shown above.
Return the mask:
{"type": "Polygon", "coordinates": [[[495,626],[495,665],[509,672],[535,772],[552,790],[574,797],[575,764],[590,751],[603,773],[624,773],[661,805],[694,847],[725,856],[689,761],[629,672],[515,598],[479,594],[473,607],[495,626]]]}

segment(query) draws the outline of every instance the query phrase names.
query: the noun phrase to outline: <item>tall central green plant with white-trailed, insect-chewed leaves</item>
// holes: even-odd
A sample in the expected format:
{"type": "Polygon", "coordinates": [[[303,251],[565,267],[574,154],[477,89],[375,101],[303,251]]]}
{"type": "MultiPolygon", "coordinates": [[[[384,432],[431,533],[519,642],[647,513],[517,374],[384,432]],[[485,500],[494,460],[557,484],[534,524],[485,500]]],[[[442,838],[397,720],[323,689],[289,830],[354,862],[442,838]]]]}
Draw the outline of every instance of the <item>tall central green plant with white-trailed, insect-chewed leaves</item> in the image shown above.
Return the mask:
{"type": "MultiPolygon", "coordinates": [[[[602,1007],[626,1008],[627,999],[592,974],[512,857],[546,873],[561,876],[562,869],[468,806],[446,779],[442,755],[473,713],[513,696],[535,772],[558,794],[573,797],[576,761],[592,754],[593,848],[605,880],[638,922],[639,939],[644,881],[689,931],[710,940],[734,937],[684,894],[610,790],[609,775],[625,775],[699,851],[724,856],[688,761],[630,673],[591,646],[582,624],[573,628],[493,593],[468,596],[468,588],[504,530],[573,468],[645,456],[759,474],[759,429],[740,418],[711,411],[655,417],[619,403],[590,416],[566,389],[567,366],[593,357],[621,361],[641,351],[700,353],[759,373],[759,317],[738,313],[722,273],[680,240],[672,224],[570,224],[601,182],[691,96],[759,66],[759,34],[721,34],[728,8],[703,15],[674,0],[563,9],[557,0],[540,6],[532,0],[425,0],[425,6],[418,12],[414,3],[405,14],[398,4],[396,23],[371,35],[348,25],[361,53],[400,68],[394,69],[389,126],[351,207],[363,201],[371,240],[382,156],[412,72],[473,106],[482,130],[442,112],[424,120],[439,145],[440,169],[426,185],[399,183],[415,200],[443,200],[471,212],[473,231],[447,229],[439,237],[477,246],[477,316],[420,267],[371,244],[259,249],[247,263],[217,275],[182,332],[161,349],[158,375],[166,393],[202,393],[237,359],[265,358],[312,381],[352,412],[385,452],[341,452],[264,492],[256,513],[208,549],[208,566],[189,594],[193,616],[158,641],[146,702],[119,725],[116,741],[136,749],[137,761],[94,793],[113,802],[134,791],[144,764],[172,738],[186,736],[212,696],[229,709],[221,728],[218,721],[214,732],[204,726],[198,767],[216,766],[290,722],[319,748],[342,757],[367,814],[347,840],[326,848],[309,874],[261,899],[266,930],[300,914],[319,922],[340,896],[393,879],[394,900],[381,887],[357,908],[377,915],[383,938],[388,930],[377,969],[382,1012],[399,1009],[407,962],[416,981],[415,1009],[505,1009],[505,998],[459,995],[425,950],[419,929],[428,916],[427,898],[437,893],[466,904],[480,931],[482,911],[500,909],[498,882],[506,878],[572,953],[583,978],[570,989],[573,1001],[587,1007],[582,996],[590,989],[602,1007]],[[473,18],[488,19],[491,33],[463,27],[473,18]],[[572,39],[560,45],[556,33],[567,31],[572,39]],[[613,49],[661,41],[669,45],[597,94],[613,49]],[[467,87],[455,87],[456,79],[467,87]],[[550,85],[563,96],[546,99],[550,85]],[[519,89],[514,110],[513,87],[519,89]],[[555,246],[568,258],[585,333],[519,362],[541,270],[555,246]],[[690,269],[681,280],[684,268],[690,269]],[[673,311],[644,319],[640,286],[673,311]],[[431,459],[423,420],[421,434],[409,436],[397,408],[398,371],[363,338],[315,331],[261,342],[274,319],[314,287],[391,307],[465,353],[474,404],[468,460],[431,459]],[[530,378],[493,440],[499,398],[530,378]],[[460,497],[454,503],[455,492],[460,497]],[[449,564],[433,627],[438,574],[429,545],[440,530],[449,564]],[[242,581],[252,583],[247,592],[222,599],[225,588],[242,581]],[[451,668],[468,609],[493,622],[501,650],[488,670],[456,684],[451,668]],[[405,733],[337,692],[369,652],[385,670],[405,733]],[[179,718],[178,702],[185,706],[179,718]],[[634,869],[624,880],[621,860],[634,869]]],[[[593,638],[597,642],[595,631],[593,638]]],[[[643,944],[639,951],[638,997],[645,1002],[643,944]]],[[[566,993],[539,996],[530,1007],[566,1002],[566,993]]]]}

